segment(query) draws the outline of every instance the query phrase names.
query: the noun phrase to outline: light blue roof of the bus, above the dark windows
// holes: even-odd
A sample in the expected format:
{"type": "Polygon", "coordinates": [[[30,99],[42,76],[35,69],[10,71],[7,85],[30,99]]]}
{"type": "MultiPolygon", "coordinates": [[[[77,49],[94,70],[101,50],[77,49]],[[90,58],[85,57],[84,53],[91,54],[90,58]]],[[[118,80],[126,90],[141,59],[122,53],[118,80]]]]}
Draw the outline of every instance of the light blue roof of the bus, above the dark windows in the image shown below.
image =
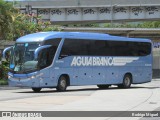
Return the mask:
{"type": "Polygon", "coordinates": [[[137,41],[137,42],[151,42],[149,39],[142,38],[127,38],[112,36],[103,33],[89,33],[89,32],[38,32],[28,34],[17,39],[16,42],[42,42],[53,38],[71,38],[71,39],[95,39],[95,40],[115,40],[115,41],[137,41]]]}

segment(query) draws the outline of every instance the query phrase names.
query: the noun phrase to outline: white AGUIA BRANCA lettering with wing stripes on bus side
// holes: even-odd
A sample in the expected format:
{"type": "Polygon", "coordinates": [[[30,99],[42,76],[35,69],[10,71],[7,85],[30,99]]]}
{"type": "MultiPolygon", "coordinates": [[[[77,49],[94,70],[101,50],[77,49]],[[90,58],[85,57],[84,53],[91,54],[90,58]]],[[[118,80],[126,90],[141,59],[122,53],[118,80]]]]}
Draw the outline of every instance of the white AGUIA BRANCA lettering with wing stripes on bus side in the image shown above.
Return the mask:
{"type": "Polygon", "coordinates": [[[139,57],[74,57],[71,66],[124,66],[139,57]]]}

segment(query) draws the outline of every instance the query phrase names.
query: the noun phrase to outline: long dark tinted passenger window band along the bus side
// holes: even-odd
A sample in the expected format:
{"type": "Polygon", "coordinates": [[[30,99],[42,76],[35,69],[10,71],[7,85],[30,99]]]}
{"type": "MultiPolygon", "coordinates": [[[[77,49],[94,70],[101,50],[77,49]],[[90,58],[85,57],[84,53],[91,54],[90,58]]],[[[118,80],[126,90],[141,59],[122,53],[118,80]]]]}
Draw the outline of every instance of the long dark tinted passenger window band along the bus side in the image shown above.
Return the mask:
{"type": "Polygon", "coordinates": [[[146,56],[150,53],[151,43],[147,42],[66,39],[60,58],[71,55],[146,56]]]}

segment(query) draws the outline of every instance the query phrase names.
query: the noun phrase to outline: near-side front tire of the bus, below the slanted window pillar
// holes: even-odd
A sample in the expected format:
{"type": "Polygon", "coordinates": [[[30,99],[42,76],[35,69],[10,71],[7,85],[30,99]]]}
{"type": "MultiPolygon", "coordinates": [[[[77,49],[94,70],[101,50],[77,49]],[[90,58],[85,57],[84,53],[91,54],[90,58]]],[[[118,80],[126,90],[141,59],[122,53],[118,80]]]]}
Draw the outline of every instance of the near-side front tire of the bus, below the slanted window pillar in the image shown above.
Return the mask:
{"type": "Polygon", "coordinates": [[[65,76],[61,76],[58,80],[58,85],[56,89],[59,92],[63,92],[63,91],[66,91],[66,88],[67,88],[67,79],[65,76]]]}

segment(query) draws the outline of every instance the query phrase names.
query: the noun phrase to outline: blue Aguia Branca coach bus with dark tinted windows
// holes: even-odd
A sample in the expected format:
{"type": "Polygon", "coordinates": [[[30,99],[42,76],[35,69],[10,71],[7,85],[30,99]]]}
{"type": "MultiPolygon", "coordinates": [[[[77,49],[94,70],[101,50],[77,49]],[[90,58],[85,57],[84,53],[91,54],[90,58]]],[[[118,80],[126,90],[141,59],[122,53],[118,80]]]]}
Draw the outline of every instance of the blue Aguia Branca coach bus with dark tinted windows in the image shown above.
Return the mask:
{"type": "Polygon", "coordinates": [[[89,32],[39,32],[20,37],[10,51],[10,86],[65,91],[68,86],[129,88],[152,79],[152,42],[89,32]]]}

